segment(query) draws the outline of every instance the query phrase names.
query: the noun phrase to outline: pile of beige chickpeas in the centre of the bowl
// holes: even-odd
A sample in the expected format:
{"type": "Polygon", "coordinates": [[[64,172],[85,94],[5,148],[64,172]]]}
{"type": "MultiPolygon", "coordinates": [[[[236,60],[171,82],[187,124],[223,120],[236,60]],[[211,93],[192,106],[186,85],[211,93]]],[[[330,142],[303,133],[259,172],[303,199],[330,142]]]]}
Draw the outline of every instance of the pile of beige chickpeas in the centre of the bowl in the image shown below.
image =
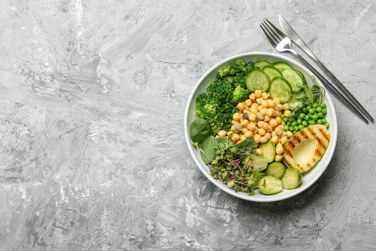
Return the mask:
{"type": "MultiPolygon", "coordinates": [[[[279,98],[271,100],[269,93],[256,90],[249,95],[249,99],[238,103],[237,108],[238,112],[232,116],[231,130],[228,132],[221,130],[215,137],[225,137],[233,133],[230,137],[233,143],[237,144],[250,138],[256,141],[256,147],[260,142],[270,141],[276,145],[277,155],[274,160],[281,161],[283,145],[293,135],[292,132],[285,131],[286,123],[281,119],[282,111],[285,117],[291,114],[288,103],[282,105],[279,98]],[[235,131],[239,133],[235,134],[235,131]]],[[[256,148],[255,152],[262,155],[260,148],[256,148]]]]}

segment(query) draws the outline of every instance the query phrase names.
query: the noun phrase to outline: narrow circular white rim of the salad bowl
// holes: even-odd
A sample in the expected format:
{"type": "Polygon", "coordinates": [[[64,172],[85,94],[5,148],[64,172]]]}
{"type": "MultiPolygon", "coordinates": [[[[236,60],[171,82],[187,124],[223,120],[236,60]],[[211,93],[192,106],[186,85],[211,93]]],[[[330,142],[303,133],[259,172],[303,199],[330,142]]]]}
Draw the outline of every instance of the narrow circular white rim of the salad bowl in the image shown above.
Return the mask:
{"type": "MultiPolygon", "coordinates": [[[[333,154],[334,154],[334,151],[335,151],[335,146],[336,146],[336,143],[337,143],[337,134],[338,134],[338,128],[337,128],[337,126],[338,125],[337,125],[337,116],[336,116],[336,113],[335,113],[335,110],[334,110],[334,105],[333,105],[332,99],[330,98],[330,96],[329,96],[329,94],[328,94],[327,91],[326,91],[326,94],[325,94],[325,98],[327,99],[327,102],[326,102],[327,105],[329,104],[331,112],[333,113],[333,117],[332,117],[333,122],[332,122],[331,127],[334,128],[334,135],[331,135],[331,141],[334,141],[333,147],[331,149],[326,149],[326,150],[329,150],[329,153],[328,153],[329,154],[329,158],[327,158],[327,160],[325,161],[325,163],[323,163],[323,166],[322,166],[322,169],[320,170],[320,172],[312,180],[308,181],[308,184],[305,187],[301,187],[300,189],[297,189],[297,190],[293,191],[292,193],[288,193],[287,195],[282,195],[280,197],[260,198],[260,197],[256,197],[256,196],[243,195],[243,194],[235,192],[234,190],[231,190],[229,187],[225,186],[224,184],[218,183],[210,175],[210,173],[208,173],[208,172],[205,171],[204,167],[200,164],[199,160],[197,159],[196,155],[194,154],[194,152],[193,152],[193,146],[192,146],[192,144],[190,142],[191,138],[189,136],[189,127],[188,127],[189,108],[190,108],[190,105],[192,103],[194,93],[196,93],[196,90],[202,84],[203,80],[210,73],[212,73],[212,71],[215,68],[217,68],[217,67],[219,67],[219,66],[221,66],[223,64],[228,64],[227,63],[228,61],[231,61],[233,59],[237,59],[237,58],[240,58],[240,57],[243,57],[243,56],[260,56],[260,55],[272,56],[272,57],[280,58],[281,59],[280,61],[286,61],[286,62],[292,61],[294,64],[296,64],[300,68],[302,68],[310,76],[314,75],[310,70],[308,70],[308,68],[306,68],[304,65],[300,64],[299,62],[295,61],[294,59],[291,59],[291,58],[288,58],[286,56],[279,55],[279,54],[276,54],[276,53],[270,53],[270,52],[247,52],[247,53],[241,53],[241,54],[237,54],[237,55],[234,55],[234,56],[230,56],[229,58],[225,58],[222,61],[220,61],[217,64],[215,64],[214,66],[212,66],[209,70],[207,70],[205,72],[205,74],[199,79],[199,81],[197,81],[196,85],[193,87],[193,89],[191,91],[191,94],[190,94],[190,96],[188,98],[186,107],[185,107],[185,113],[184,113],[184,133],[185,133],[185,140],[186,140],[186,143],[188,145],[188,149],[189,149],[189,151],[190,151],[190,153],[192,155],[192,158],[193,158],[194,162],[199,167],[200,171],[206,176],[206,178],[208,178],[208,180],[211,181],[211,183],[213,183],[215,186],[217,186],[219,189],[223,190],[224,192],[229,193],[230,195],[233,195],[233,196],[235,196],[237,198],[240,198],[240,199],[245,199],[247,201],[255,201],[255,202],[273,202],[273,201],[281,201],[281,200],[284,200],[284,199],[291,198],[291,197],[293,197],[293,196],[295,196],[295,195],[297,195],[297,194],[305,191],[309,187],[311,187],[312,184],[315,183],[318,180],[318,178],[320,178],[320,176],[324,173],[324,171],[326,170],[326,168],[329,165],[330,161],[332,160],[332,157],[333,157],[333,154]]],[[[317,80],[316,82],[320,86],[323,86],[319,80],[317,80]]]]}

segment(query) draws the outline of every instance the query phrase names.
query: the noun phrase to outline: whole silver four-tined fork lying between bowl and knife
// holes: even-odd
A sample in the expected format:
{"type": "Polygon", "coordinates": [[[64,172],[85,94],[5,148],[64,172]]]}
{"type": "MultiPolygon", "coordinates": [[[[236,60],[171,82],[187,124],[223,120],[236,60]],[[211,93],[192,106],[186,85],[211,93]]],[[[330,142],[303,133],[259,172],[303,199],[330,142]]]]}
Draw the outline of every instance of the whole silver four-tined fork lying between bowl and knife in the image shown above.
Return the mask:
{"type": "Polygon", "coordinates": [[[302,56],[300,56],[293,48],[291,48],[291,40],[290,38],[286,37],[286,35],[281,32],[276,26],[274,26],[269,20],[266,19],[266,21],[270,24],[271,27],[268,25],[267,22],[264,21],[262,23],[262,26],[260,25],[261,29],[264,31],[266,37],[270,41],[271,45],[279,52],[291,52],[293,53],[297,58],[300,59],[300,61],[303,62],[303,64],[310,70],[314,75],[317,76],[317,78],[323,83],[323,85],[331,91],[331,93],[337,97],[344,105],[346,105],[353,113],[355,113],[356,116],[358,116],[361,120],[363,120],[365,123],[368,124],[368,120],[356,109],[356,107],[349,102],[346,97],[343,96],[342,93],[340,93],[329,81],[327,81],[323,75],[321,75],[315,68],[312,67],[302,56]],[[266,32],[266,31],[267,32],[266,32]],[[278,34],[277,34],[278,33],[278,34]]]}

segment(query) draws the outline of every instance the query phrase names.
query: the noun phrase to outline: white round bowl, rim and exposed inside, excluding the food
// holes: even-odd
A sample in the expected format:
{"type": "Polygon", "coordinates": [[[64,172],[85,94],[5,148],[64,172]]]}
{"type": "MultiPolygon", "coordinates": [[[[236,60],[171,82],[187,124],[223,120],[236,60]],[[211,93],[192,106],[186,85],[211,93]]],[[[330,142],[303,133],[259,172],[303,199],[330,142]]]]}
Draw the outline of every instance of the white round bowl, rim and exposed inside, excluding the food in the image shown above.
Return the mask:
{"type": "MultiPolygon", "coordinates": [[[[239,59],[243,59],[245,62],[250,61],[258,61],[258,60],[267,60],[269,62],[275,62],[275,61],[285,61],[288,62],[291,67],[293,67],[295,70],[301,71],[305,79],[308,83],[308,85],[312,85],[311,82],[311,76],[313,75],[311,71],[309,71],[306,67],[299,64],[298,62],[287,58],[285,56],[281,56],[274,53],[267,53],[267,52],[250,52],[250,53],[243,53],[239,55],[232,56],[230,58],[226,58],[223,61],[219,62],[218,64],[214,65],[210,70],[208,70],[197,82],[195,87],[192,90],[192,93],[188,99],[188,103],[186,105],[185,109],[185,117],[184,117],[184,129],[185,129],[185,138],[188,144],[188,149],[192,154],[192,157],[194,161],[196,162],[197,166],[201,170],[201,172],[208,178],[215,186],[219,187],[221,190],[223,190],[226,193],[229,193],[233,196],[236,196],[241,199],[246,199],[248,201],[257,201],[257,202],[270,202],[270,201],[280,201],[282,199],[290,198],[294,195],[297,195],[298,193],[303,192],[308,187],[310,187],[317,179],[325,172],[327,166],[329,165],[329,162],[331,161],[331,158],[334,153],[335,144],[337,142],[337,117],[335,114],[335,110],[333,107],[333,103],[329,95],[326,93],[323,102],[327,105],[327,115],[325,116],[325,119],[327,122],[329,122],[330,126],[328,128],[328,131],[331,134],[331,140],[329,142],[329,146],[324,152],[321,159],[315,164],[314,167],[312,167],[307,172],[302,173],[303,180],[302,183],[296,187],[295,189],[286,190],[282,189],[281,192],[276,193],[274,195],[265,195],[261,193],[258,189],[255,190],[255,194],[249,196],[248,193],[244,192],[235,192],[234,190],[227,187],[226,184],[222,184],[220,181],[215,180],[211,175],[209,171],[209,167],[203,163],[200,156],[200,150],[197,147],[192,146],[192,141],[189,135],[189,126],[191,122],[196,119],[195,113],[195,103],[196,98],[199,96],[199,94],[206,92],[206,87],[210,84],[211,81],[215,79],[215,76],[217,75],[217,72],[224,67],[227,66],[227,64],[233,64],[239,59]]],[[[322,85],[320,81],[317,81],[317,84],[322,85]]]]}

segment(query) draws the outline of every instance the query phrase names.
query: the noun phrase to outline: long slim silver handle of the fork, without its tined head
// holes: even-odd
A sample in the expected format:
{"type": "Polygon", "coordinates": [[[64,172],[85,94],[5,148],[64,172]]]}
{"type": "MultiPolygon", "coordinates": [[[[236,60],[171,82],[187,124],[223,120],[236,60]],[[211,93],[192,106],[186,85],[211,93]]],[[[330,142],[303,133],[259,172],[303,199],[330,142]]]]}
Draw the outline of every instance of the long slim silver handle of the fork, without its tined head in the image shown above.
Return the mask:
{"type": "Polygon", "coordinates": [[[346,97],[343,96],[342,93],[340,93],[334,86],[326,80],[326,78],[323,77],[315,68],[312,67],[302,56],[300,56],[295,50],[289,50],[291,53],[293,53],[297,58],[300,59],[300,61],[303,62],[303,64],[310,70],[314,75],[317,76],[317,78],[323,83],[323,85],[328,88],[331,93],[337,97],[344,105],[346,105],[353,113],[355,113],[356,116],[358,116],[361,120],[363,120],[364,123],[368,124],[368,120],[355,108],[355,106],[349,102],[349,100],[346,99],[346,97]]]}

